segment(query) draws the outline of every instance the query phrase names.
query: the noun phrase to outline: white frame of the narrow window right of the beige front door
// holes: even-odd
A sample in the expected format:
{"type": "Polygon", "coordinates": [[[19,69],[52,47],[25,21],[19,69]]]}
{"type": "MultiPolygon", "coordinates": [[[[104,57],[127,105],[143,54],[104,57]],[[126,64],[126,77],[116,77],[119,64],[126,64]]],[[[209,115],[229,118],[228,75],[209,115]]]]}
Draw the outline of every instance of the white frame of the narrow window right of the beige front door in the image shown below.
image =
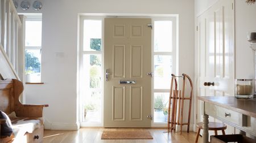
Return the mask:
{"type": "MultiPolygon", "coordinates": [[[[151,46],[151,70],[154,71],[154,56],[155,55],[171,55],[172,56],[172,72],[174,74],[178,73],[177,71],[177,16],[170,17],[152,17],[152,46],[151,46]],[[172,21],[172,51],[154,51],[154,21],[172,21]]],[[[171,74],[171,73],[170,73],[171,74]]],[[[171,79],[170,79],[171,83],[171,79]]],[[[170,89],[154,89],[154,77],[151,82],[151,115],[153,119],[151,121],[151,127],[167,127],[166,122],[154,122],[154,93],[170,93],[170,89]]]]}

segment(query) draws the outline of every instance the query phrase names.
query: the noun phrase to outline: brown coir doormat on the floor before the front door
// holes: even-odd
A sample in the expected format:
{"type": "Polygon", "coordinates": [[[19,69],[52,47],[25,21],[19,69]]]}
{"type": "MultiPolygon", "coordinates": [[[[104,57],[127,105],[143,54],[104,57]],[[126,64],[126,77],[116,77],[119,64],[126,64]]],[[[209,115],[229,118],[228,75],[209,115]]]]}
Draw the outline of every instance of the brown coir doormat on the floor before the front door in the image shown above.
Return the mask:
{"type": "Polygon", "coordinates": [[[148,131],[103,131],[101,140],[113,139],[153,139],[148,131]]]}

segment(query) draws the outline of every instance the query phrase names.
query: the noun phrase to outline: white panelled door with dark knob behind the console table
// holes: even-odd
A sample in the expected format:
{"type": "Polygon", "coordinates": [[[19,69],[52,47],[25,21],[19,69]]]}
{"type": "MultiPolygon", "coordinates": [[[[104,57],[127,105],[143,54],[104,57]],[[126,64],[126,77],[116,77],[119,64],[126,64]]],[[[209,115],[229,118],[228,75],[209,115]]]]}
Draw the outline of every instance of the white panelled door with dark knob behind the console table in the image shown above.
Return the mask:
{"type": "MultiPolygon", "coordinates": [[[[220,0],[197,18],[196,96],[234,96],[233,3],[220,0]]],[[[196,109],[197,122],[201,122],[200,101],[196,101],[196,109]]]]}

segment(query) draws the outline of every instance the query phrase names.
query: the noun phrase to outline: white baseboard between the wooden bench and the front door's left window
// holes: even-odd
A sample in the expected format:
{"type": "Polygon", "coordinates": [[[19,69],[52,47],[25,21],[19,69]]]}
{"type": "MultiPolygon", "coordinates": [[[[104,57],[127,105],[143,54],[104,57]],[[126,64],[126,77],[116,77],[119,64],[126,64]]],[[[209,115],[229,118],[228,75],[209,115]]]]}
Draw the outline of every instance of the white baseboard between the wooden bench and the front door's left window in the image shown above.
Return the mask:
{"type": "Polygon", "coordinates": [[[80,124],[69,124],[69,123],[50,123],[47,119],[44,119],[44,129],[52,130],[78,130],[80,129],[80,124]]]}

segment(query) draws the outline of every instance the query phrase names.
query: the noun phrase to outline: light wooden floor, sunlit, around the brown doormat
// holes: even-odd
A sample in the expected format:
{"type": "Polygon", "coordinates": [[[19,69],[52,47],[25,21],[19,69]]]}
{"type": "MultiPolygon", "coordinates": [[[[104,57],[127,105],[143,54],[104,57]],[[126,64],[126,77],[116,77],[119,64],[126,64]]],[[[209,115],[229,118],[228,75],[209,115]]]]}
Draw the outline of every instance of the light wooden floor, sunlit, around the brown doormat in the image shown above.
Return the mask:
{"type": "MultiPolygon", "coordinates": [[[[123,128],[81,128],[79,131],[44,131],[45,143],[94,143],[94,142],[113,142],[113,143],[164,143],[164,142],[180,142],[192,143],[195,142],[195,132],[166,133],[166,129],[123,129],[123,128]],[[153,140],[101,140],[102,131],[150,131],[153,140]]],[[[201,143],[201,137],[199,137],[201,143]]]]}

